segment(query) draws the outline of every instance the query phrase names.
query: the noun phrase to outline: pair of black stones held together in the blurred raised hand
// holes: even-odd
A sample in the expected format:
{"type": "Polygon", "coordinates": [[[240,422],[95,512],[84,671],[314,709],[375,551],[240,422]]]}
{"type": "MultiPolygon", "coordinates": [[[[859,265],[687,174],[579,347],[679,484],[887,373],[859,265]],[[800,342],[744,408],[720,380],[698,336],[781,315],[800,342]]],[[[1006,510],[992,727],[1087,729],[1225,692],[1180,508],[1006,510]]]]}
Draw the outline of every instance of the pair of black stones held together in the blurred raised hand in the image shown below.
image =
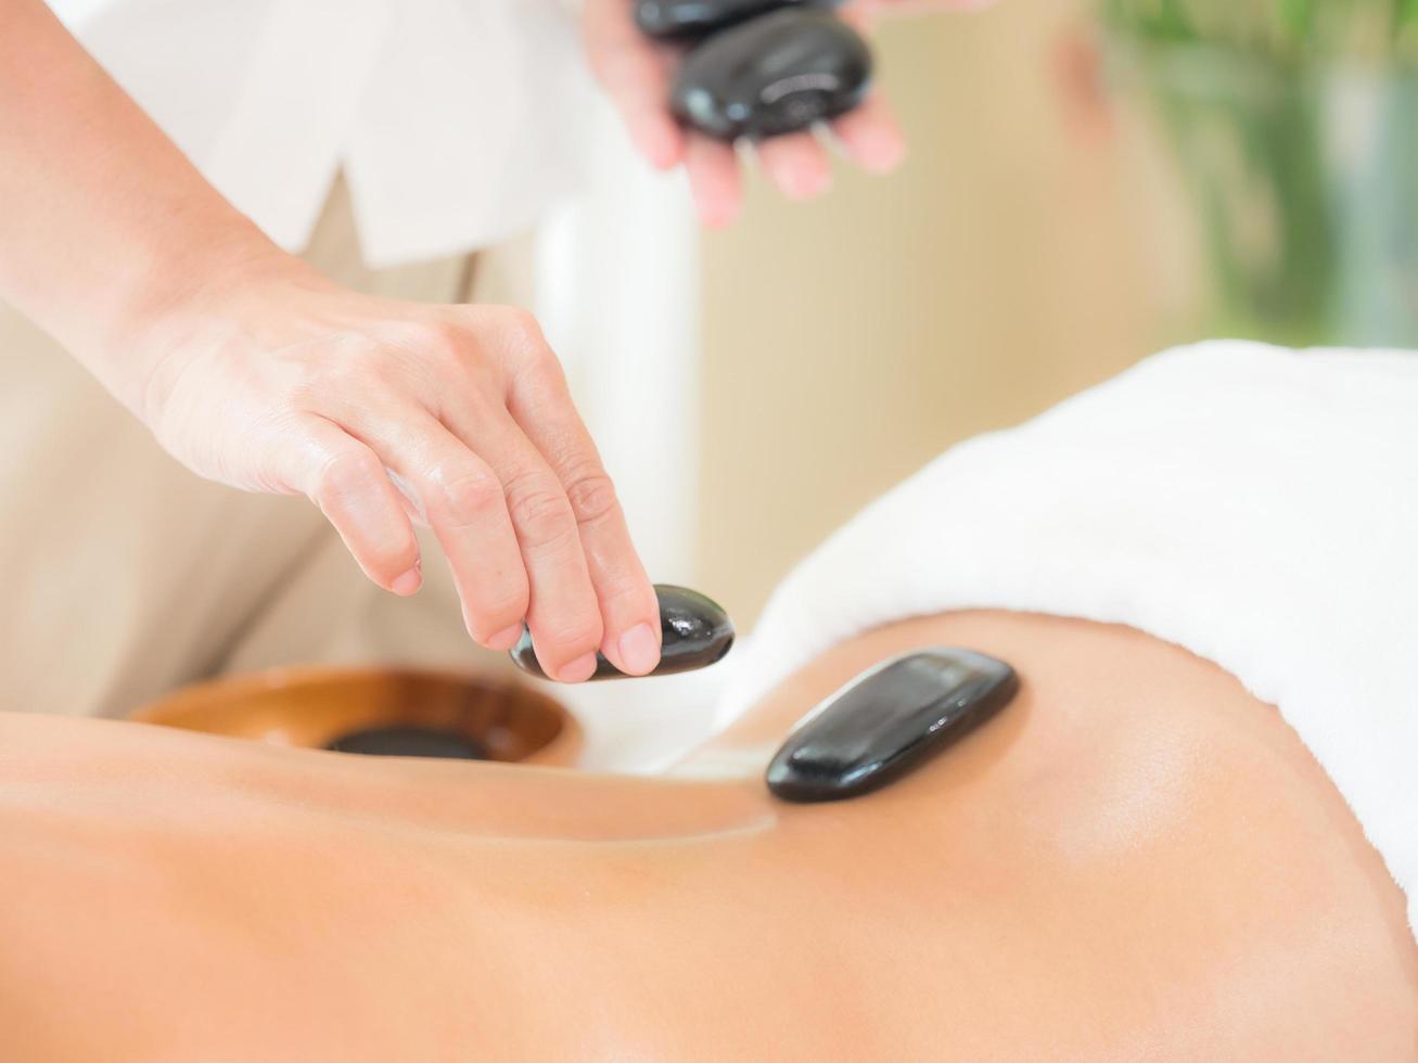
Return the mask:
{"type": "Polygon", "coordinates": [[[794,133],[866,96],[872,55],[841,0],[641,0],[640,28],[688,40],[671,91],[686,125],[719,140],[794,133]]]}

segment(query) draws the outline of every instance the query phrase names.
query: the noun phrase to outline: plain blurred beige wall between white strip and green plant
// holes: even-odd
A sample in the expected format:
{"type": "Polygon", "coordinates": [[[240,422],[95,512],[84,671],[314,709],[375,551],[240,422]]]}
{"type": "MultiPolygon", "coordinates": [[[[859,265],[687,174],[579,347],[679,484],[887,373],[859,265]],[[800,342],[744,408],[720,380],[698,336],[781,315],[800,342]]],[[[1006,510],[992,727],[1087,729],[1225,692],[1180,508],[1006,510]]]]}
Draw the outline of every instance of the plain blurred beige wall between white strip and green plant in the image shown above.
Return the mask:
{"type": "Polygon", "coordinates": [[[740,625],[864,503],[1136,361],[1183,302],[1161,153],[1062,91],[1086,10],[883,27],[905,169],[838,167],[813,204],[753,179],[743,220],[706,237],[698,571],[740,625]]]}

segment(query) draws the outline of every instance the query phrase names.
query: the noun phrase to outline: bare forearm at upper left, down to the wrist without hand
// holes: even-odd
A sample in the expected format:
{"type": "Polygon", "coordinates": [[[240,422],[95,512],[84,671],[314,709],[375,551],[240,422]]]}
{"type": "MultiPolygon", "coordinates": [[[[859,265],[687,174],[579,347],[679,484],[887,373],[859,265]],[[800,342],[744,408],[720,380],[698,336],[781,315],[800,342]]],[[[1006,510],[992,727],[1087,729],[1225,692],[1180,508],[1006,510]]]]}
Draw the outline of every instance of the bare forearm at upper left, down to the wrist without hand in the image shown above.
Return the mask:
{"type": "Polygon", "coordinates": [[[135,337],[281,264],[41,0],[0,0],[0,298],[138,408],[135,337]]]}

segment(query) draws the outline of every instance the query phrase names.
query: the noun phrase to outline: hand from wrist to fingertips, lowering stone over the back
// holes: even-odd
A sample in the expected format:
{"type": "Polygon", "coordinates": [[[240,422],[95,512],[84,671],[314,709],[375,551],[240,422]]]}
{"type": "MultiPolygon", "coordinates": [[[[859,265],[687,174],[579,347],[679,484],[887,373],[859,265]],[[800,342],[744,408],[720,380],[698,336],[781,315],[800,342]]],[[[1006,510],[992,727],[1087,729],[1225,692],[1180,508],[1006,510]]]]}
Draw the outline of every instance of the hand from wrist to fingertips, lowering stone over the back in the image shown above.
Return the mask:
{"type": "Polygon", "coordinates": [[[420,585],[425,520],[472,638],[508,649],[525,618],[554,679],[587,679],[597,649],[655,668],[654,588],[535,319],[285,272],[142,334],[136,405],[163,446],[210,479],[309,496],[394,594],[420,585]]]}

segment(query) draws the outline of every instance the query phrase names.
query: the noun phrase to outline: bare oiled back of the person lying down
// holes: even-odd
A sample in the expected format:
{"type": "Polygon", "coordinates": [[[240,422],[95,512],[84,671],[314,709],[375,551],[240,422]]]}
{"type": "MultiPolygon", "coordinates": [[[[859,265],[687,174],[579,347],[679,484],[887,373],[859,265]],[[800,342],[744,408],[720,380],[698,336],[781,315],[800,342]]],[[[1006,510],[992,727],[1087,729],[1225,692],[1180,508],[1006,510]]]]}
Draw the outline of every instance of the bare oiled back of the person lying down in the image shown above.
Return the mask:
{"type": "Polygon", "coordinates": [[[4,1057],[1414,1059],[1400,890],[1278,714],[1173,646],[909,621],[705,763],[930,643],[1021,694],[837,805],[0,717],[4,1057]]]}

